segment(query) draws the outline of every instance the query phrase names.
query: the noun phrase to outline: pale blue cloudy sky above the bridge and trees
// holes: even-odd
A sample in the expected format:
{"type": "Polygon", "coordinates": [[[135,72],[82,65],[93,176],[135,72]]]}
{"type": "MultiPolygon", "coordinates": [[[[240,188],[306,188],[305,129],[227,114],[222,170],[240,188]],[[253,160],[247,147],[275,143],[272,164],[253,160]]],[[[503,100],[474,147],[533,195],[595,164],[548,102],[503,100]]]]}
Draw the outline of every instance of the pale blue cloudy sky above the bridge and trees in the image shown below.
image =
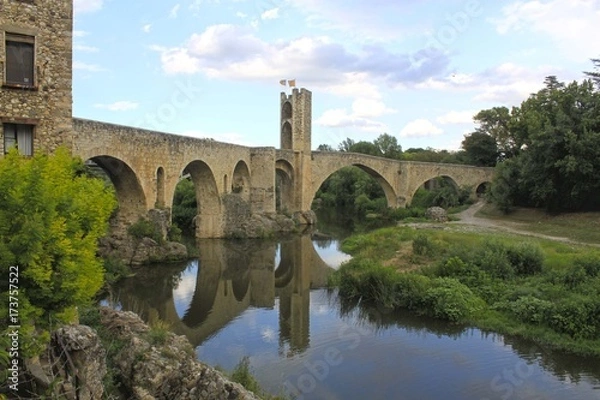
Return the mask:
{"type": "Polygon", "coordinates": [[[279,147],[280,92],[312,146],[387,133],[458,150],[473,115],[600,58],[600,0],[75,0],[73,114],[279,147]]]}

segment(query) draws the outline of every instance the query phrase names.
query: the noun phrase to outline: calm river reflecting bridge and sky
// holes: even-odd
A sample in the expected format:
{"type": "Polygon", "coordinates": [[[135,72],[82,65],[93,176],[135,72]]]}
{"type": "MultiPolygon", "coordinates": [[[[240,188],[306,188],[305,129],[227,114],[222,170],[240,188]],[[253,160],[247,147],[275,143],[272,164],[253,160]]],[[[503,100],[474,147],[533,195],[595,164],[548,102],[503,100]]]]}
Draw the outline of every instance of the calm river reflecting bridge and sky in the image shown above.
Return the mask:
{"type": "Polygon", "coordinates": [[[405,313],[345,307],[324,286],[338,240],[203,240],[199,258],[138,270],[105,301],[158,318],[198,358],[249,357],[296,399],[600,399],[600,360],[405,313]]]}

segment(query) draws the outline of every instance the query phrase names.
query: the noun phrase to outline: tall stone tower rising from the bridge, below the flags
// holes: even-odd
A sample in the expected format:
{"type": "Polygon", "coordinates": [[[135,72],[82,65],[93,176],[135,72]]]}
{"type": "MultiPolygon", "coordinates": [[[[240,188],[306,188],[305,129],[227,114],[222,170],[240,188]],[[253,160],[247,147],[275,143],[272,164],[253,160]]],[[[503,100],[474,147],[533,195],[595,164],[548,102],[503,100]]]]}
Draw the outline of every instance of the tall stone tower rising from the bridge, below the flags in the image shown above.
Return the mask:
{"type": "Polygon", "coordinates": [[[312,93],[297,88],[291,95],[281,93],[281,150],[294,152],[293,182],[286,205],[289,211],[308,211],[311,207],[311,129],[312,93]]]}

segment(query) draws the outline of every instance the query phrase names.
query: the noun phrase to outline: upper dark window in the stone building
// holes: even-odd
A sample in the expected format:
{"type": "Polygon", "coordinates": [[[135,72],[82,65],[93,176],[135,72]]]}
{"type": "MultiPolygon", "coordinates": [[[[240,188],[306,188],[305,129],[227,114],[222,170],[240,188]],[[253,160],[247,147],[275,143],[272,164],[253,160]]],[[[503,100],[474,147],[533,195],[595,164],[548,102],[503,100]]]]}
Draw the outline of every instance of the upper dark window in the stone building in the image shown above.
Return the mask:
{"type": "Polygon", "coordinates": [[[34,86],[34,44],[33,36],[6,33],[6,84],[34,86]]]}

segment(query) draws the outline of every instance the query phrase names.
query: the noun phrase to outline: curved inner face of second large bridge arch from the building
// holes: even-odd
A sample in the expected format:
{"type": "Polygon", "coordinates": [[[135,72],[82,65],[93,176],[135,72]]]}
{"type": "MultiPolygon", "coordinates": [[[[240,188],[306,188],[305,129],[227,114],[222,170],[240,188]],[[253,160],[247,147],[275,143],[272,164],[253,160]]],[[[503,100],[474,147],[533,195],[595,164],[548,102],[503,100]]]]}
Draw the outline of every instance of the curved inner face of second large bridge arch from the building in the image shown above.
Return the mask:
{"type": "Polygon", "coordinates": [[[181,172],[182,176],[186,174],[190,174],[196,191],[196,237],[219,237],[222,231],[222,204],[211,168],[204,161],[195,160],[181,172]]]}

